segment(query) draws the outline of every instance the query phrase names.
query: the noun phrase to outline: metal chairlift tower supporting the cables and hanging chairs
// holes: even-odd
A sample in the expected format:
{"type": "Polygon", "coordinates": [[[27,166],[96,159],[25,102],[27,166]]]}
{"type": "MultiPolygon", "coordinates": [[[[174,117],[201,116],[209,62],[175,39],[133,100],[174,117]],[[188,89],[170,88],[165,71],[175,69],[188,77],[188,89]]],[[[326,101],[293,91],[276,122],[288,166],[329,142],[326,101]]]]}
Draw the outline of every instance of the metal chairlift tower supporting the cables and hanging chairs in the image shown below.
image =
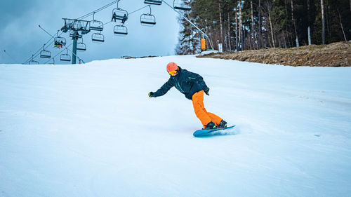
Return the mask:
{"type": "Polygon", "coordinates": [[[65,25],[61,28],[62,32],[66,33],[69,31],[69,36],[72,37],[73,47],[72,47],[72,64],[76,64],[77,60],[77,40],[81,38],[84,34],[90,32],[88,20],[77,20],[62,18],[65,20],[65,25]]]}

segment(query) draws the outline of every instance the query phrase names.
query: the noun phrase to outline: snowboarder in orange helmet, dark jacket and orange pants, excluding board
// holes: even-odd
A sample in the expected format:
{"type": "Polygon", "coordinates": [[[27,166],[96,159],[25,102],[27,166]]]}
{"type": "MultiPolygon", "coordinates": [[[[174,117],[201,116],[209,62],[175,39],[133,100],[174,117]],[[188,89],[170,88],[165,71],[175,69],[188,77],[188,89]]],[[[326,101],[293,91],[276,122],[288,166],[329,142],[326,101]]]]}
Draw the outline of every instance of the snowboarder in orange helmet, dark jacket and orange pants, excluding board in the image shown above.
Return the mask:
{"type": "Polygon", "coordinates": [[[195,114],[200,119],[204,129],[225,128],[227,122],[219,116],[207,112],[204,107],[204,93],[209,95],[209,90],[204,79],[199,74],[189,72],[186,69],[178,67],[175,62],[167,64],[167,72],[170,78],[156,92],[150,92],[149,97],[159,97],[164,95],[173,86],[176,86],[180,93],[183,93],[187,99],[192,100],[195,114]]]}

